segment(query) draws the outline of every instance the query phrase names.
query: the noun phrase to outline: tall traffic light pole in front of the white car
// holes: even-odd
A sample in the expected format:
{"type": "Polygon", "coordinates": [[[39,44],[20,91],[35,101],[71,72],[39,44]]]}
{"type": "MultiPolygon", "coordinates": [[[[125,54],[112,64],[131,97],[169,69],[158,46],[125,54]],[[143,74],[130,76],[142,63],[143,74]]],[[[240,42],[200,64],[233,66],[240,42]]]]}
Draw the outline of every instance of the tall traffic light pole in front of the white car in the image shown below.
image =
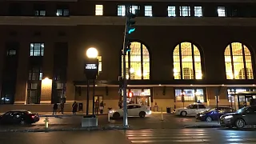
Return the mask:
{"type": "MultiPolygon", "coordinates": [[[[126,6],[126,16],[128,15],[130,10],[130,6],[126,6]]],[[[125,34],[123,38],[123,50],[122,50],[122,68],[123,68],[123,87],[122,87],[122,93],[123,93],[123,127],[128,128],[128,118],[127,118],[127,95],[126,95],[126,87],[127,87],[127,80],[126,80],[126,34],[127,34],[127,22],[128,18],[126,17],[126,28],[125,28],[125,34]]]]}

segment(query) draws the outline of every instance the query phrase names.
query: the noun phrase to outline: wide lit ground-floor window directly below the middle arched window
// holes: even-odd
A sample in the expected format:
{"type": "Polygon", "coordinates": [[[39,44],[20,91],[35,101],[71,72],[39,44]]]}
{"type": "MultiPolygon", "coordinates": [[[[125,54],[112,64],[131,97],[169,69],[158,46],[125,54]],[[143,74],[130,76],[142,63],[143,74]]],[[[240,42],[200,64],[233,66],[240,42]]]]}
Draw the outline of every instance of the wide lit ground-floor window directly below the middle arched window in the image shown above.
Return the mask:
{"type": "Polygon", "coordinates": [[[175,89],[175,102],[205,102],[203,89],[175,89]]]}

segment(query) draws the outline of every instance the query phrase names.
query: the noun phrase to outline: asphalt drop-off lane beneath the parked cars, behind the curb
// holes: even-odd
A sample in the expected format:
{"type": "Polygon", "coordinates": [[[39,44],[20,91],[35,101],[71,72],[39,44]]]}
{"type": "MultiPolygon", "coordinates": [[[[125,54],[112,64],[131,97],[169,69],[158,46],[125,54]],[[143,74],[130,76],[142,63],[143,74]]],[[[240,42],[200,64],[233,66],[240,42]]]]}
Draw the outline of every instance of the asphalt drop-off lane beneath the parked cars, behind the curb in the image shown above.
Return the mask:
{"type": "MultiPolygon", "coordinates": [[[[33,129],[43,128],[46,117],[41,117],[39,122],[36,122],[30,126],[0,126],[1,129],[12,128],[12,129],[23,129],[30,127],[33,129]]],[[[161,120],[161,114],[151,114],[146,118],[130,117],[128,118],[129,126],[133,129],[170,129],[170,128],[183,128],[184,126],[191,125],[212,125],[217,122],[196,122],[194,117],[178,117],[171,114],[164,114],[164,120],[161,120]]],[[[81,127],[82,116],[56,116],[49,117],[49,126],[54,128],[59,127],[81,127]],[[57,127],[56,127],[57,126],[57,127]]],[[[107,115],[98,116],[98,126],[109,126],[109,125],[122,125],[122,118],[118,120],[111,119],[107,121],[107,115]]]]}

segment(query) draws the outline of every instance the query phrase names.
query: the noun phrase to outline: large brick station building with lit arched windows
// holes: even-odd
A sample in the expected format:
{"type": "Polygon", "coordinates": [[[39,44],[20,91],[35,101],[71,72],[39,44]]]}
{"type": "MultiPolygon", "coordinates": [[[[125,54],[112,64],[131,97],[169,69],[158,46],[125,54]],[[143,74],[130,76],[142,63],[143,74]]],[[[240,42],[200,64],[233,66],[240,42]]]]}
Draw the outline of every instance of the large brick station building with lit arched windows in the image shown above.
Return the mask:
{"type": "MultiPolygon", "coordinates": [[[[0,1],[2,110],[48,111],[62,98],[67,110],[74,101],[86,107],[90,47],[100,62],[95,98],[117,108],[128,3],[140,11],[127,55],[128,101],[165,110],[214,106],[219,94],[219,104],[230,105],[229,94],[254,90],[252,1],[0,1]]],[[[90,107],[92,98],[90,88],[90,107]]]]}

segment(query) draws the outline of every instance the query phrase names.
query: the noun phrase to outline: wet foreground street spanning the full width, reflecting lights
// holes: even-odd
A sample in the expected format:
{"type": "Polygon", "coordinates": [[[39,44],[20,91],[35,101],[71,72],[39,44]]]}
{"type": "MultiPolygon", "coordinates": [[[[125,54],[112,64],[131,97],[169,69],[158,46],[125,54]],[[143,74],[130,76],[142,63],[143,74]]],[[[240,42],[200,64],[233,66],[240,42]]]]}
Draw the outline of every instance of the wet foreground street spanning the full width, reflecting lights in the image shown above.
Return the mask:
{"type": "Polygon", "coordinates": [[[256,143],[254,131],[217,129],[95,130],[1,133],[1,144],[234,144],[256,143]]]}

